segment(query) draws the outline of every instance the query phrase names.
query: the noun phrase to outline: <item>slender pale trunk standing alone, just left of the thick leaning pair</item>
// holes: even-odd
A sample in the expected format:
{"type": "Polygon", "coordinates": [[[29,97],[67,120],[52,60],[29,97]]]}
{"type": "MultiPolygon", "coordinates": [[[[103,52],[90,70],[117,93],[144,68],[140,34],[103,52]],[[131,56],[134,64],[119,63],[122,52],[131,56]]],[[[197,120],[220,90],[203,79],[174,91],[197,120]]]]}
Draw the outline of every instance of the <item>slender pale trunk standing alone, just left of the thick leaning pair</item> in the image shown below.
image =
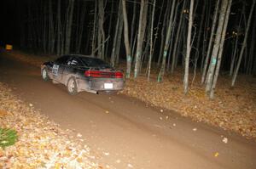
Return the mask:
{"type": "Polygon", "coordinates": [[[183,89],[184,93],[187,94],[189,92],[189,56],[191,51],[191,32],[193,25],[193,9],[194,9],[194,0],[190,1],[189,7],[189,29],[188,29],[188,40],[187,40],[187,50],[186,50],[186,58],[185,58],[185,72],[183,78],[183,89]]]}

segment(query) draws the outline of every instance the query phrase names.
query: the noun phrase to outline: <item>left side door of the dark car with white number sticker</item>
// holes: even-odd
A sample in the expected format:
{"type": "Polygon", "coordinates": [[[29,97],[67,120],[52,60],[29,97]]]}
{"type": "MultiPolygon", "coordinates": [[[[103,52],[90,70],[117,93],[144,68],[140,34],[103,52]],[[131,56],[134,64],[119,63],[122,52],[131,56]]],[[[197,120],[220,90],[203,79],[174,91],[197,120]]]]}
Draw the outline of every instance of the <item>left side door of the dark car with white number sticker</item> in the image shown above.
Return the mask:
{"type": "Polygon", "coordinates": [[[62,56],[61,58],[55,60],[54,65],[52,66],[52,75],[55,81],[62,82],[63,71],[67,67],[67,61],[69,58],[69,56],[62,56]]]}

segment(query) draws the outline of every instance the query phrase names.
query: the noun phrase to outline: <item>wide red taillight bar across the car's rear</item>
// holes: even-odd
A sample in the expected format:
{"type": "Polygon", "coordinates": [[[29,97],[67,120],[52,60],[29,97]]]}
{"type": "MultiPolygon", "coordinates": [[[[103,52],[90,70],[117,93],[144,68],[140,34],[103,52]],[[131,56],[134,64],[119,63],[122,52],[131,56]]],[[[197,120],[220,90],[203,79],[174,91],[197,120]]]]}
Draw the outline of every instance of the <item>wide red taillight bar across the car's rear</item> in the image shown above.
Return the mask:
{"type": "Polygon", "coordinates": [[[122,72],[100,71],[100,70],[86,70],[84,72],[86,77],[99,77],[99,78],[123,78],[122,72]]]}

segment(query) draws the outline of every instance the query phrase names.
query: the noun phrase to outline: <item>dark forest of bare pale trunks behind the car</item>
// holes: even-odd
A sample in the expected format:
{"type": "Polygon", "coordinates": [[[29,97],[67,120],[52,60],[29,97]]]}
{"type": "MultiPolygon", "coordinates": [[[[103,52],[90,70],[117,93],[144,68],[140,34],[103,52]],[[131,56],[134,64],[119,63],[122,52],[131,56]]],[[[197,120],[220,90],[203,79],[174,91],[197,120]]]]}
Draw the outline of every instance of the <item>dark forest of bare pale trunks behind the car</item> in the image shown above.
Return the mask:
{"type": "Polygon", "coordinates": [[[26,0],[20,3],[20,47],[43,54],[92,54],[111,65],[125,59],[126,77],[152,67],[183,66],[213,98],[218,72],[255,75],[255,0],[26,0]]]}

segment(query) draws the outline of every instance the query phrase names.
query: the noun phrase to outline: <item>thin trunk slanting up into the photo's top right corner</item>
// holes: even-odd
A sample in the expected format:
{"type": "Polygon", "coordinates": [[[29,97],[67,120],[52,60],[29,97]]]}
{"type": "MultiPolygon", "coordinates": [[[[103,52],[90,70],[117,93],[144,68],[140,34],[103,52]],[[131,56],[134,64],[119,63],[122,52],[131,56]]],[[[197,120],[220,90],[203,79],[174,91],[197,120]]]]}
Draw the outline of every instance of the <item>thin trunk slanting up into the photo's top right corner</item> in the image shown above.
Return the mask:
{"type": "Polygon", "coordinates": [[[238,70],[239,70],[240,65],[241,65],[242,55],[243,55],[244,49],[246,48],[246,45],[247,45],[248,31],[249,31],[249,28],[250,28],[250,25],[251,25],[251,20],[252,20],[252,15],[253,15],[253,9],[254,9],[254,6],[255,6],[255,2],[256,2],[256,0],[253,0],[253,5],[252,5],[251,10],[250,10],[249,18],[247,20],[247,29],[246,29],[246,32],[245,32],[245,37],[244,37],[243,42],[242,42],[241,51],[240,51],[240,54],[239,54],[239,59],[238,59],[237,65],[236,65],[236,70],[234,72],[234,76],[232,77],[232,82],[231,82],[232,87],[234,87],[234,85],[235,85],[236,76],[237,76],[238,70]]]}

